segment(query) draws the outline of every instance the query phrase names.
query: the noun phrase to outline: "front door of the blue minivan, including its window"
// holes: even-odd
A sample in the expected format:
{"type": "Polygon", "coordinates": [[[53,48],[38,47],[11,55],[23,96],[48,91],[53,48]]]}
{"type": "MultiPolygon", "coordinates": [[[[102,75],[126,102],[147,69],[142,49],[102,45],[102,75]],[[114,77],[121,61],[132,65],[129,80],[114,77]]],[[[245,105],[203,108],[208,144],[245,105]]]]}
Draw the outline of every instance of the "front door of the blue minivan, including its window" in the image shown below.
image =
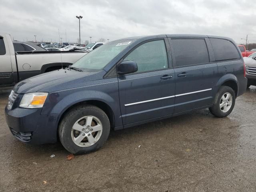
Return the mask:
{"type": "Polygon", "coordinates": [[[138,64],[138,72],[118,77],[124,125],[174,112],[174,69],[166,42],[168,45],[167,39],[145,42],[124,58],[138,64]]]}

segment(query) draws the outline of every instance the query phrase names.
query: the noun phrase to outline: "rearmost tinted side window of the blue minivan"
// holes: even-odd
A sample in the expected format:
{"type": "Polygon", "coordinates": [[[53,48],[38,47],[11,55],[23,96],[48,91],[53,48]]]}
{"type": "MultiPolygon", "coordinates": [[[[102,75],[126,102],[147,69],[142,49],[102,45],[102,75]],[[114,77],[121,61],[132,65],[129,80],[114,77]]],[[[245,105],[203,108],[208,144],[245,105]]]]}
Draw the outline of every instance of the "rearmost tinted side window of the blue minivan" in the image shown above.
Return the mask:
{"type": "Polygon", "coordinates": [[[216,61],[239,59],[240,54],[236,46],[226,39],[209,38],[216,61]]]}

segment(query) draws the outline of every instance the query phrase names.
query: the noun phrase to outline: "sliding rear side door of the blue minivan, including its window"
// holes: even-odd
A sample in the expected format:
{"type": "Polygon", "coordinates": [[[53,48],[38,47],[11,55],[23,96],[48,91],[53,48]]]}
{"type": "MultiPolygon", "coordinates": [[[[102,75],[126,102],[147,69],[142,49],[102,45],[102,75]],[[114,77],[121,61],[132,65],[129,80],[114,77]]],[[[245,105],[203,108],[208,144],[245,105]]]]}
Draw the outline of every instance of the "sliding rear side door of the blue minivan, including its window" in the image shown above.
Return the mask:
{"type": "Polygon", "coordinates": [[[216,62],[210,62],[205,38],[170,40],[176,78],[175,113],[208,106],[218,80],[216,62]]]}

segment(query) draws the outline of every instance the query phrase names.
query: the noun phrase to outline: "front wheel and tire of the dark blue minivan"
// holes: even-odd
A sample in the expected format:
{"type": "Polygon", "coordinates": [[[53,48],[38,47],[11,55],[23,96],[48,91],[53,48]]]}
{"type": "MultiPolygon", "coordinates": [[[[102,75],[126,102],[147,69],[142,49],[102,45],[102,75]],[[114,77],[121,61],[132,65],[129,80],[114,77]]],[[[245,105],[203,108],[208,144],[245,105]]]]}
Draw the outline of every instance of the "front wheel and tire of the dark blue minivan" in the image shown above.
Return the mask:
{"type": "Polygon", "coordinates": [[[58,128],[60,142],[73,154],[85,154],[98,150],[108,139],[109,132],[108,116],[103,110],[93,105],[73,108],[65,114],[58,128]],[[98,131],[93,132],[93,129],[98,131]],[[80,142],[80,138],[84,139],[80,142]]]}

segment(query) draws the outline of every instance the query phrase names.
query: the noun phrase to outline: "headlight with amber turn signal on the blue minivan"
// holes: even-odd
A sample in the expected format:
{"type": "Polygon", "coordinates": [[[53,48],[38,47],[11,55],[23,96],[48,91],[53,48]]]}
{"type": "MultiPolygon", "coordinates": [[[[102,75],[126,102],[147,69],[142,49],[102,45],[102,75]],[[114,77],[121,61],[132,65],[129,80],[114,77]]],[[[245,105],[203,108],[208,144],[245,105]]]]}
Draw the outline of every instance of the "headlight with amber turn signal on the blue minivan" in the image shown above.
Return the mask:
{"type": "Polygon", "coordinates": [[[48,93],[36,92],[26,93],[21,99],[20,107],[23,108],[42,108],[48,93]]]}

